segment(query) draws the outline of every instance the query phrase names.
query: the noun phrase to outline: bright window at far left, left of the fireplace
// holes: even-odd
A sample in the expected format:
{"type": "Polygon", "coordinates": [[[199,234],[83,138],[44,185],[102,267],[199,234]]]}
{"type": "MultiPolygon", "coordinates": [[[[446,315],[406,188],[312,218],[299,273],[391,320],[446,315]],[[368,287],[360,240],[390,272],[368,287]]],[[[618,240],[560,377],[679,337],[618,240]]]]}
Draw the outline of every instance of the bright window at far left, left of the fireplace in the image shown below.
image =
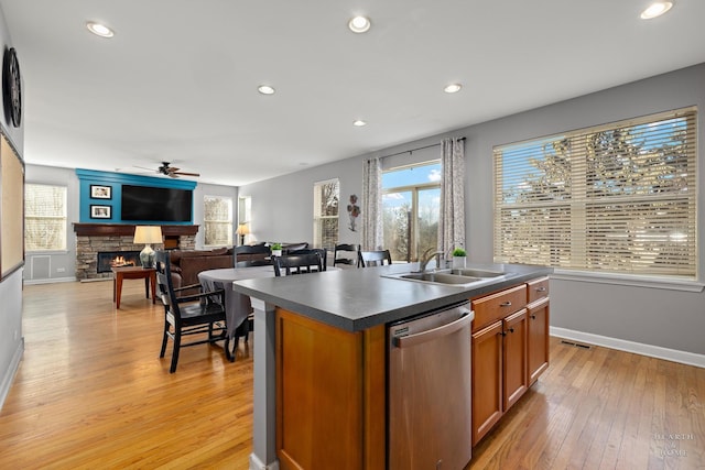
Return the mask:
{"type": "Polygon", "coordinates": [[[66,250],[66,187],[24,186],[24,250],[66,250]]]}

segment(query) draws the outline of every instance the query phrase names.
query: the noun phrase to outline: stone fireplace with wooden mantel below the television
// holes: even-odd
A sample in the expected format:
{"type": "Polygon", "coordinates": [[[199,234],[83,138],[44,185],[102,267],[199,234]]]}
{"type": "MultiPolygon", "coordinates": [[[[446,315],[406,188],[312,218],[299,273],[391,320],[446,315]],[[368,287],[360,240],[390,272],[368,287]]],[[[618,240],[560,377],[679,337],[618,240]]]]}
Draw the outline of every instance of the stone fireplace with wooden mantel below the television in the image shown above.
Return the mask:
{"type": "MultiPolygon", "coordinates": [[[[164,243],[153,244],[154,250],[180,249],[194,250],[198,226],[161,226],[164,243]]],[[[133,262],[137,253],[139,265],[143,244],[134,244],[134,226],[126,223],[74,223],[76,232],[76,278],[79,281],[111,278],[110,260],[122,256],[133,262]],[[106,255],[106,253],[108,255],[106,255]],[[102,265],[98,259],[101,258],[102,265]],[[110,258],[109,260],[105,260],[110,258]],[[107,269],[106,264],[108,263],[107,269]]]]}

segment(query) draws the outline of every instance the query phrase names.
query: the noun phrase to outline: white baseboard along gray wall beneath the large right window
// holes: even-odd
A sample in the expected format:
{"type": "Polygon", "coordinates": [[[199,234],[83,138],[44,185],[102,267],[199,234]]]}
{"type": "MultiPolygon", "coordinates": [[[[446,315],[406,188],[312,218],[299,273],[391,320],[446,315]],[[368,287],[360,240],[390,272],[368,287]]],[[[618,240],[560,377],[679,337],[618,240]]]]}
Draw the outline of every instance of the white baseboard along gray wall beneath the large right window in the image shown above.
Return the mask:
{"type": "Polygon", "coordinates": [[[648,356],[650,358],[665,359],[666,361],[680,362],[705,369],[705,354],[661,348],[660,346],[643,345],[641,342],[627,341],[625,339],[610,338],[607,336],[593,335],[565,328],[550,327],[550,332],[551,336],[556,336],[558,338],[604,346],[605,348],[633,352],[637,354],[648,356]]]}

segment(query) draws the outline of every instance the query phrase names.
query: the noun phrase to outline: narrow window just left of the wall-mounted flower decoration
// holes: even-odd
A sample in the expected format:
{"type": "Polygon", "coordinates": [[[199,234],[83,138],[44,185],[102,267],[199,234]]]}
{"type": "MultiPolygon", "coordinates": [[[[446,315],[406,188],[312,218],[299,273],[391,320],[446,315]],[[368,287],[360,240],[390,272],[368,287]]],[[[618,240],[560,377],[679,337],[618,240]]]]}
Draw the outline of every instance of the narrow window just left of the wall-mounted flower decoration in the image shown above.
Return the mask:
{"type": "Polygon", "coordinates": [[[338,240],[338,179],[316,183],[313,187],[313,245],[333,250],[338,240]]]}

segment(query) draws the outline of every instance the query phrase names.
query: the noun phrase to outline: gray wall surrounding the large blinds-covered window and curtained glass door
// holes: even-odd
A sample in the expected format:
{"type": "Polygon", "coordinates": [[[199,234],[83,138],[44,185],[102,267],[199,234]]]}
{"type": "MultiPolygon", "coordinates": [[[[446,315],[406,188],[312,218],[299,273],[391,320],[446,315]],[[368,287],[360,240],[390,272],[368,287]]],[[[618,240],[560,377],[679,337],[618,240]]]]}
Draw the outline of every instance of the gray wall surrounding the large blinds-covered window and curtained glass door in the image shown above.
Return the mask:
{"type": "MultiPolygon", "coordinates": [[[[471,261],[491,262],[494,145],[693,105],[701,111],[705,109],[705,64],[243,186],[240,195],[252,196],[252,229],[260,240],[311,240],[314,182],[339,177],[340,196],[346,200],[349,193],[361,188],[365,157],[422,147],[437,143],[444,136],[466,136],[466,247],[471,261]]],[[[698,120],[698,247],[705,241],[704,122],[705,119],[698,120]]],[[[426,154],[414,153],[393,160],[394,164],[402,164],[417,161],[420,156],[426,154]]],[[[390,162],[386,164],[393,166],[390,162]]],[[[345,230],[343,221],[340,226],[340,240],[359,241],[359,237],[345,230]]],[[[702,249],[699,253],[702,281],[705,256],[702,249]]],[[[702,291],[692,293],[657,285],[605,284],[556,276],[551,281],[551,316],[552,328],[578,337],[617,339],[620,341],[618,347],[632,341],[650,347],[651,350],[644,351],[647,353],[668,348],[705,354],[705,293],[702,291]]]]}

